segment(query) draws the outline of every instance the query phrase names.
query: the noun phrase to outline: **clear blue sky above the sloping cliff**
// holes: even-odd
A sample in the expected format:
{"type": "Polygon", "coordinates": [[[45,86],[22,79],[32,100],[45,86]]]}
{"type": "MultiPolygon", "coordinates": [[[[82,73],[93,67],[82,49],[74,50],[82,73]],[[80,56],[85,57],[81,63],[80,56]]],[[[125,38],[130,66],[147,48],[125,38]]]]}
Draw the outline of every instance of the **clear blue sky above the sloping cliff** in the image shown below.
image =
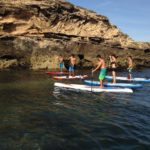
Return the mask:
{"type": "Polygon", "coordinates": [[[108,17],[135,41],[150,42],[150,0],[68,0],[108,17]]]}

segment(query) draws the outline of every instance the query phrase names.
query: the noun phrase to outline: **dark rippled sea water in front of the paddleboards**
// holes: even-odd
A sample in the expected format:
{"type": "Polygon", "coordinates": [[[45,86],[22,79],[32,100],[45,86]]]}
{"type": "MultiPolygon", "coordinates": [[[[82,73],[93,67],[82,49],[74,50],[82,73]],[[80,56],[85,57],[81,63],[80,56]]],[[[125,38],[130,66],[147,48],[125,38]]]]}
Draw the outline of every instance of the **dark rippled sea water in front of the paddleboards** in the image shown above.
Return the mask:
{"type": "MultiPolygon", "coordinates": [[[[150,77],[150,69],[134,75],[150,77]]],[[[0,150],[150,149],[150,83],[133,94],[53,84],[44,72],[0,72],[0,150]]]]}

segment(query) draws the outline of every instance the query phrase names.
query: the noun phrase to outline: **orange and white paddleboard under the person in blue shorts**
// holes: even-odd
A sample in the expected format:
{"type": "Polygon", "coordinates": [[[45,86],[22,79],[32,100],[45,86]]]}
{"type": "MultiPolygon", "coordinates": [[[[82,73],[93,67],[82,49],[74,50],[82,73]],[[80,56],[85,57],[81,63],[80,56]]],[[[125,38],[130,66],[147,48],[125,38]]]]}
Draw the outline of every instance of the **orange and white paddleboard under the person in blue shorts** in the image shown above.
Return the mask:
{"type": "Polygon", "coordinates": [[[76,75],[76,76],[53,76],[55,80],[77,80],[77,79],[85,79],[87,75],[76,75]]]}

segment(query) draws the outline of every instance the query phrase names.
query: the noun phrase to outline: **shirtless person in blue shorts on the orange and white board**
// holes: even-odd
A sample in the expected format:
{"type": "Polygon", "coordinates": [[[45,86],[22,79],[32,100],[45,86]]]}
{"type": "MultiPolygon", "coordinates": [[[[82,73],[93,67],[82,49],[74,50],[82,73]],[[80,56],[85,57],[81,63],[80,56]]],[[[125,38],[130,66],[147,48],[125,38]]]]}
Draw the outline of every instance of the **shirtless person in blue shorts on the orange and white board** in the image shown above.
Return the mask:
{"type": "Polygon", "coordinates": [[[69,57],[70,65],[69,65],[69,76],[75,76],[75,65],[76,65],[76,57],[74,54],[71,54],[69,57]]]}

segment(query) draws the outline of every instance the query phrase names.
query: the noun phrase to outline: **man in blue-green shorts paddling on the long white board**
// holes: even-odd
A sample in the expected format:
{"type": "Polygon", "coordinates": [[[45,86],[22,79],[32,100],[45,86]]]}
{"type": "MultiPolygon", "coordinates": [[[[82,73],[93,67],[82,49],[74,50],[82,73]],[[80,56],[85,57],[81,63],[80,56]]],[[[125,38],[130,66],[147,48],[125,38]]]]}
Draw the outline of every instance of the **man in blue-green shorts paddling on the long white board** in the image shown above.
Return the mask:
{"type": "Polygon", "coordinates": [[[99,73],[100,88],[103,88],[103,82],[106,76],[106,64],[104,59],[100,55],[97,55],[97,58],[98,58],[97,67],[94,70],[92,70],[92,73],[100,69],[100,73],[99,73]]]}

